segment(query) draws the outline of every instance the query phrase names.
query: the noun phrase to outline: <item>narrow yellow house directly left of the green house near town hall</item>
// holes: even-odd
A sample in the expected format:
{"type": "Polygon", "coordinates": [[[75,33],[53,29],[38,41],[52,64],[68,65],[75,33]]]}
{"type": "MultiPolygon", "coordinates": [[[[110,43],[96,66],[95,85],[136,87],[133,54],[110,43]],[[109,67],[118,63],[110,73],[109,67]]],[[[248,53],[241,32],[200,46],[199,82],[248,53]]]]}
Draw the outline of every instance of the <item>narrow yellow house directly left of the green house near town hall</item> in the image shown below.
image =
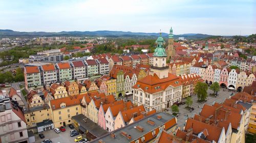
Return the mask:
{"type": "Polygon", "coordinates": [[[100,80],[105,81],[106,85],[108,86],[108,95],[116,95],[116,80],[113,77],[109,77],[109,76],[101,76],[100,80]]]}

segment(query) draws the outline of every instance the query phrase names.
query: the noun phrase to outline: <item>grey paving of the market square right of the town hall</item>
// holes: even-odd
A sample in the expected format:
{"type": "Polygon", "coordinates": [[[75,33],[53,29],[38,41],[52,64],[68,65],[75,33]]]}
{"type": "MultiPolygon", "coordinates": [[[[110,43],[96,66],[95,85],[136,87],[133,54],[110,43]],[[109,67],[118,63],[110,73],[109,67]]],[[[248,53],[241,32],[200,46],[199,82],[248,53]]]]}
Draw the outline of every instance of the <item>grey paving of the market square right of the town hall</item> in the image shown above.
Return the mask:
{"type": "MultiPolygon", "coordinates": [[[[211,90],[208,90],[207,93],[209,95],[214,92],[211,90]]],[[[183,130],[183,127],[186,125],[185,120],[187,119],[187,116],[188,118],[193,118],[195,114],[199,114],[204,104],[212,105],[214,102],[221,103],[225,101],[226,98],[229,98],[231,93],[232,92],[229,92],[228,90],[223,91],[223,89],[221,88],[220,91],[218,92],[217,97],[208,96],[207,101],[204,103],[197,103],[197,99],[198,99],[197,95],[193,95],[192,96],[193,104],[191,105],[191,107],[194,107],[193,111],[189,112],[189,110],[185,109],[185,107],[187,106],[186,104],[179,106],[179,116],[177,118],[178,127],[180,127],[180,129],[183,130]]],[[[183,99],[182,101],[185,102],[185,99],[183,99]]],[[[172,113],[172,109],[169,109],[168,112],[172,113]]]]}

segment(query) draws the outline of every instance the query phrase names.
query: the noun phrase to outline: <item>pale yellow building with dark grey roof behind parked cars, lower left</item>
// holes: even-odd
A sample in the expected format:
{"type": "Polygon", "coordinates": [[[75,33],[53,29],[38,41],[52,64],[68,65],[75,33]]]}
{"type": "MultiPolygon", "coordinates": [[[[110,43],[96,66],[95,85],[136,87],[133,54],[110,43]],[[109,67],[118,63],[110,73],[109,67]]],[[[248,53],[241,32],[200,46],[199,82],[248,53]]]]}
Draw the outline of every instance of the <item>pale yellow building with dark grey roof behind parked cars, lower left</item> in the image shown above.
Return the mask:
{"type": "Polygon", "coordinates": [[[28,130],[33,130],[34,133],[37,132],[36,123],[52,120],[51,110],[48,105],[27,108],[24,111],[24,116],[28,130]]]}

